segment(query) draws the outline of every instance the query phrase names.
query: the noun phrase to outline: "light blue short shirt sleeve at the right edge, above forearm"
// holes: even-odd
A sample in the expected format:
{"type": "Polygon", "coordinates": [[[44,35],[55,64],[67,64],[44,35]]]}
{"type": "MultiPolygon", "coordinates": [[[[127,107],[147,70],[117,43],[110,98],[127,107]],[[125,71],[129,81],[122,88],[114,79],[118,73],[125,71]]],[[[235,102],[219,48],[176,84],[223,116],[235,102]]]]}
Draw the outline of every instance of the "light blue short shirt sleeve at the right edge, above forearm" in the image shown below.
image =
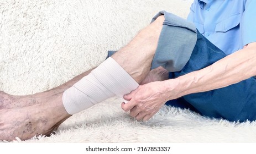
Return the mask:
{"type": "Polygon", "coordinates": [[[241,20],[241,35],[243,46],[256,42],[256,1],[247,0],[241,20]]]}

